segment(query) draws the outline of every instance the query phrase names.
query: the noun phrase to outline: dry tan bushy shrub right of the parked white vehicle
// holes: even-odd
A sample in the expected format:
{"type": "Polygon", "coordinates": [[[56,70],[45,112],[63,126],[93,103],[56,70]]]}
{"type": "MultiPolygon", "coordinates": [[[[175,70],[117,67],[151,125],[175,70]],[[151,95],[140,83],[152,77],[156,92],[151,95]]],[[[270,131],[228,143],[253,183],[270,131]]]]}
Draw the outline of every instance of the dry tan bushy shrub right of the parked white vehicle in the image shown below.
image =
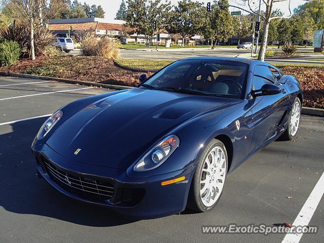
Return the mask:
{"type": "Polygon", "coordinates": [[[85,56],[97,56],[116,59],[119,56],[119,44],[109,38],[98,39],[93,33],[86,33],[80,39],[85,56]]]}

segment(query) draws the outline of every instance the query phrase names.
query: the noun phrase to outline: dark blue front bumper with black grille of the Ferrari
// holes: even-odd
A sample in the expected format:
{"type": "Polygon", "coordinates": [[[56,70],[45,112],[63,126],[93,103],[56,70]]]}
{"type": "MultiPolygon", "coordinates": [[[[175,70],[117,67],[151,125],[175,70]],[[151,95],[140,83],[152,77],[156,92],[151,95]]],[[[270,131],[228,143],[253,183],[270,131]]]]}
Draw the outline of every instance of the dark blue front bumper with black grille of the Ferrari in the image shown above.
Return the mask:
{"type": "Polygon", "coordinates": [[[46,144],[33,145],[32,151],[38,175],[74,199],[108,207],[132,219],[164,217],[180,213],[186,207],[193,174],[191,167],[163,175],[131,178],[126,170],[68,160],[46,144]],[[182,176],[186,178],[184,181],[161,185],[163,181],[182,176]]]}

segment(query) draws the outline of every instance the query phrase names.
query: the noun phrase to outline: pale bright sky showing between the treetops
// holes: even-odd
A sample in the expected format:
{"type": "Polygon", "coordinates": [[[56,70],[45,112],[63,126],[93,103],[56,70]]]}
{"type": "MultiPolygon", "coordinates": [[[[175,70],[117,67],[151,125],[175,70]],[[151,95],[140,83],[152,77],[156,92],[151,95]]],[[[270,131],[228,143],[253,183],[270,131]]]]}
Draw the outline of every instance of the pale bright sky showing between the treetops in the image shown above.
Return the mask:
{"type": "MultiPolygon", "coordinates": [[[[281,12],[283,12],[285,14],[285,16],[289,16],[289,8],[288,8],[288,1],[284,1],[284,2],[279,2],[279,3],[275,3],[274,4],[274,9],[280,9],[281,12]]],[[[81,2],[85,2],[85,1],[81,1],[81,2]]],[[[117,10],[119,9],[119,5],[121,3],[121,0],[88,0],[86,1],[90,6],[91,5],[101,5],[104,9],[105,13],[105,18],[106,19],[114,19],[117,10]]],[[[125,1],[126,2],[126,1],[125,1]]],[[[171,0],[171,4],[175,5],[177,4],[178,0],[171,0]]],[[[213,0],[205,0],[205,1],[199,1],[199,2],[203,2],[205,3],[205,6],[208,2],[213,2],[213,0]]],[[[238,3],[242,3],[242,1],[239,0],[234,0],[234,1],[229,1],[231,5],[235,5],[235,6],[239,6],[238,3]]],[[[254,2],[256,2],[256,7],[259,3],[258,0],[254,0],[254,2]]],[[[293,10],[298,7],[298,5],[304,4],[305,1],[303,0],[291,0],[291,10],[293,12],[293,10]]],[[[242,6],[241,6],[242,7],[242,6]]],[[[244,7],[246,9],[249,9],[248,6],[244,7]]],[[[234,8],[230,7],[230,11],[237,11],[237,9],[235,10],[234,8]]]]}

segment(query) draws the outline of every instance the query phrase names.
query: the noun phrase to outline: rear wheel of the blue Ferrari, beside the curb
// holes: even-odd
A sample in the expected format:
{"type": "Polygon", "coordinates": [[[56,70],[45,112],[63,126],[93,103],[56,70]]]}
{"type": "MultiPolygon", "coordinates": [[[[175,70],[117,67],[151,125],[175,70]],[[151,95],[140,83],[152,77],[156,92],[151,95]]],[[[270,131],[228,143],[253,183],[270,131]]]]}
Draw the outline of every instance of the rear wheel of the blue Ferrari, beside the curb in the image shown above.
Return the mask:
{"type": "Polygon", "coordinates": [[[292,110],[290,111],[287,129],[284,134],[281,135],[281,139],[293,140],[296,137],[299,128],[300,113],[301,103],[299,98],[296,98],[292,110]]]}

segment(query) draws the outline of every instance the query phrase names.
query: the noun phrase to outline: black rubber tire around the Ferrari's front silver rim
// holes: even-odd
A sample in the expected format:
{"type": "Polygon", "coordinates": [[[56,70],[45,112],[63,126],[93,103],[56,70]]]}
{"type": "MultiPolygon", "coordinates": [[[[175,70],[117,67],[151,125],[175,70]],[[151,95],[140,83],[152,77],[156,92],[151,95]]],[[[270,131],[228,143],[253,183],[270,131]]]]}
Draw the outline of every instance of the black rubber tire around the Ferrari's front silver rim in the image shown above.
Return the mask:
{"type": "MultiPolygon", "coordinates": [[[[201,177],[201,172],[202,172],[204,164],[205,164],[205,159],[208,156],[209,152],[213,148],[215,148],[216,146],[220,146],[225,151],[225,157],[226,157],[225,158],[226,159],[225,160],[225,166],[226,166],[225,170],[226,170],[226,172],[225,172],[224,182],[226,180],[226,177],[227,177],[227,163],[228,163],[228,156],[227,156],[226,147],[220,140],[213,139],[206,146],[204,152],[200,155],[200,158],[198,160],[198,164],[196,166],[196,170],[195,170],[193,178],[192,178],[190,191],[189,191],[189,196],[188,196],[188,202],[187,202],[187,208],[189,208],[191,210],[194,210],[194,211],[197,211],[197,212],[210,211],[211,209],[213,209],[215,207],[215,205],[218,203],[219,199],[221,198],[223,190],[220,192],[220,196],[215,201],[215,203],[210,207],[206,207],[204,205],[203,201],[201,200],[201,197],[200,197],[200,177],[201,177]]],[[[224,186],[223,186],[223,188],[224,188],[224,186]]]]}

